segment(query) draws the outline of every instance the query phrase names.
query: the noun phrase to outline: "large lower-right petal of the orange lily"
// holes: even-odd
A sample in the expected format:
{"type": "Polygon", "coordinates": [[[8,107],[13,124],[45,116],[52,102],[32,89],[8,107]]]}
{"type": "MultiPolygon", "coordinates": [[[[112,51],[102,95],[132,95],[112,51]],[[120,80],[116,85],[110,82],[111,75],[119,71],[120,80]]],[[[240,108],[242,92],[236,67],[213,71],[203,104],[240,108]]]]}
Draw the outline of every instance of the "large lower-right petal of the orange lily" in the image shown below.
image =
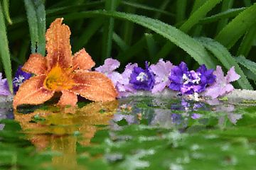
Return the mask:
{"type": "Polygon", "coordinates": [[[91,101],[114,101],[117,91],[105,74],[99,72],[76,72],[75,85],[70,91],[80,94],[91,101]]]}

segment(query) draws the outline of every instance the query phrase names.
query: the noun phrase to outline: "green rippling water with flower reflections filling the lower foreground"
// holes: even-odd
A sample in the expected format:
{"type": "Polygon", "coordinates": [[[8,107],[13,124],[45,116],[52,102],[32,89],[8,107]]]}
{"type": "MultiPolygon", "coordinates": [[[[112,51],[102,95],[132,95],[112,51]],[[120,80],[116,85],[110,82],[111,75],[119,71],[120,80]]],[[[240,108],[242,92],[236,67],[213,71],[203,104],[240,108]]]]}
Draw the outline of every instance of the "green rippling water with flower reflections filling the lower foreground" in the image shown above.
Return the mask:
{"type": "Polygon", "coordinates": [[[256,106],[130,97],[1,109],[0,169],[256,169],[256,106]]]}

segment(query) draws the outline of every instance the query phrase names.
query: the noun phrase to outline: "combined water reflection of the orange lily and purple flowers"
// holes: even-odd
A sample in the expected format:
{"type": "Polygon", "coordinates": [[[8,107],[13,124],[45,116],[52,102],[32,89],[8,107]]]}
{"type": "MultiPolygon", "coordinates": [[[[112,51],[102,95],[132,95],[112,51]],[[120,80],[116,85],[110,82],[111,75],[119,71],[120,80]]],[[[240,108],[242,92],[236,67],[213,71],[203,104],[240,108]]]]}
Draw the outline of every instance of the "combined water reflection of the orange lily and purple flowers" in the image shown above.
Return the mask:
{"type": "MultiPolygon", "coordinates": [[[[55,167],[84,169],[77,163],[76,147],[78,143],[83,146],[90,145],[90,140],[95,132],[104,128],[104,125],[110,123],[108,132],[110,132],[111,139],[117,141],[123,139],[126,142],[130,137],[129,134],[120,137],[115,135],[116,130],[124,129],[126,125],[143,124],[159,129],[170,129],[170,131],[188,132],[187,129],[193,126],[206,127],[208,120],[214,119],[215,125],[218,121],[218,125],[222,128],[225,126],[226,120],[235,124],[242,118],[241,114],[235,113],[233,105],[215,104],[214,101],[203,103],[138,97],[124,98],[119,103],[117,101],[90,103],[83,108],[48,106],[48,108],[33,111],[33,113],[16,112],[14,114],[15,120],[23,128],[23,132],[39,151],[50,148],[51,152],[55,152],[52,159],[55,167]]],[[[107,157],[107,159],[110,159],[109,162],[112,162],[113,159],[124,159],[121,156],[116,153],[114,157],[107,157]]]]}

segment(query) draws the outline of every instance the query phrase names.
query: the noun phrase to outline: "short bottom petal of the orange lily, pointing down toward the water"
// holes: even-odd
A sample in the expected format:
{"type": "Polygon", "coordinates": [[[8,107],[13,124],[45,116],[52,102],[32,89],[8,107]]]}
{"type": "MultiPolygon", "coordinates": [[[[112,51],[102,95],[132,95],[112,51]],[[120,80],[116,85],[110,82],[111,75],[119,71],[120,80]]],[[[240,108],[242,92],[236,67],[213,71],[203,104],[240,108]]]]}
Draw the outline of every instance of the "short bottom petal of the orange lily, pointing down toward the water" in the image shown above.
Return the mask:
{"type": "Polygon", "coordinates": [[[76,106],[78,102],[78,96],[71,91],[61,91],[62,95],[60,96],[60,101],[58,105],[60,106],[76,106]]]}

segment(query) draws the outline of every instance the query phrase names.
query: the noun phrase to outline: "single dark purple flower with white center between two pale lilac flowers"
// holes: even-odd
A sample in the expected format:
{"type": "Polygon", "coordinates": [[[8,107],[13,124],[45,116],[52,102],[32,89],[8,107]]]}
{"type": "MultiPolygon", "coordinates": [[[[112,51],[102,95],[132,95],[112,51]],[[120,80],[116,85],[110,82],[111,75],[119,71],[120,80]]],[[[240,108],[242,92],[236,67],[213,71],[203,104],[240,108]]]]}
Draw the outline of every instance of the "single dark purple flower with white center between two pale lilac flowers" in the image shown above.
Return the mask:
{"type": "Polygon", "coordinates": [[[146,69],[141,67],[134,67],[129,83],[133,85],[134,89],[150,91],[154,86],[154,75],[149,71],[149,64],[145,62],[146,69]]]}

